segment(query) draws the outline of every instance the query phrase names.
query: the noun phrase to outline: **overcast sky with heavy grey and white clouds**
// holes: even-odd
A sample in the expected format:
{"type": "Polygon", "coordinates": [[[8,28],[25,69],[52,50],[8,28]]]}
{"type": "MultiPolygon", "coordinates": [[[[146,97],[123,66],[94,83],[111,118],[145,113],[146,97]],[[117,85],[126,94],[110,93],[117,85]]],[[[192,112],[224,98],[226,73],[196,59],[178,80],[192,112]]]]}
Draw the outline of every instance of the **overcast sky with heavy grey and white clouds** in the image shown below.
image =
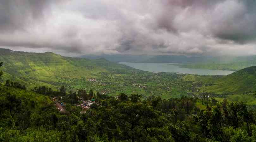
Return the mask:
{"type": "Polygon", "coordinates": [[[0,48],[256,55],[255,0],[1,0],[0,48]]]}

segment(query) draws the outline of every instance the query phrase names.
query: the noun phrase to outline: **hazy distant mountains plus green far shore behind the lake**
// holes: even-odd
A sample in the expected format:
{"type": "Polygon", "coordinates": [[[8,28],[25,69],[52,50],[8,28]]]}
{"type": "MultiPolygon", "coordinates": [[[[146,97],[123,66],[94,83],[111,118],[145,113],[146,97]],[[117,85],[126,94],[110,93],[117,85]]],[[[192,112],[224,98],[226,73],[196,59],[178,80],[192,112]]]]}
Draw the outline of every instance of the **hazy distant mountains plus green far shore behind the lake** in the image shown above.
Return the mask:
{"type": "Polygon", "coordinates": [[[256,56],[183,56],[183,55],[84,55],[81,58],[105,58],[111,62],[180,63],[183,68],[238,71],[256,66],[256,56]]]}

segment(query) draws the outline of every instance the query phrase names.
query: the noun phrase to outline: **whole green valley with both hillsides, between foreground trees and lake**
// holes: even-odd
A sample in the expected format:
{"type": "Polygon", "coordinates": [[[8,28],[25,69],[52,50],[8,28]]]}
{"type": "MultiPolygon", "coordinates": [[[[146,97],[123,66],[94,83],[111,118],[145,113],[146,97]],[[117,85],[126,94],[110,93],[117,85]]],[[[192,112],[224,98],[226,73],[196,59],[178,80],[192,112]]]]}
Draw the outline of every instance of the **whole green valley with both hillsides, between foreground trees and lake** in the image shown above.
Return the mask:
{"type": "MultiPolygon", "coordinates": [[[[117,96],[140,94],[161,98],[209,94],[247,94],[255,91],[255,69],[244,69],[228,76],[191,75],[176,73],[152,73],[109,62],[104,58],[89,60],[60,56],[51,52],[27,53],[1,49],[0,61],[4,62],[3,83],[13,80],[30,90],[36,86],[48,86],[58,90],[61,85],[67,92],[90,89],[94,92],[117,96]]],[[[218,97],[218,96],[213,96],[218,97]]],[[[219,98],[217,98],[219,99],[219,98]]],[[[248,98],[249,99],[249,98],[248,98]]],[[[235,100],[231,99],[230,101],[235,100]]],[[[243,101],[238,97],[236,101],[243,101]]],[[[249,104],[255,102],[249,101],[249,104]]]]}

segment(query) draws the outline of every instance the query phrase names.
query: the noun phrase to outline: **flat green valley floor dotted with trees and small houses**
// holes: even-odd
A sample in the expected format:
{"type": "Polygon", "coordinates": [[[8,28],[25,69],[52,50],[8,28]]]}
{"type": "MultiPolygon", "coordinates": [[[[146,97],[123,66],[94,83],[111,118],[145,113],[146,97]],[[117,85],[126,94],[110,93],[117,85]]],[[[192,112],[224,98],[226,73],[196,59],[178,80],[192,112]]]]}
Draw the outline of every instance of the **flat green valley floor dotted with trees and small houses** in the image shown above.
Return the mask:
{"type": "Polygon", "coordinates": [[[195,91],[194,82],[184,79],[186,75],[176,73],[151,73],[141,70],[113,69],[109,73],[93,74],[94,78],[61,79],[68,90],[93,89],[102,94],[116,96],[125,94],[141,94],[162,98],[180,97],[195,91]]]}

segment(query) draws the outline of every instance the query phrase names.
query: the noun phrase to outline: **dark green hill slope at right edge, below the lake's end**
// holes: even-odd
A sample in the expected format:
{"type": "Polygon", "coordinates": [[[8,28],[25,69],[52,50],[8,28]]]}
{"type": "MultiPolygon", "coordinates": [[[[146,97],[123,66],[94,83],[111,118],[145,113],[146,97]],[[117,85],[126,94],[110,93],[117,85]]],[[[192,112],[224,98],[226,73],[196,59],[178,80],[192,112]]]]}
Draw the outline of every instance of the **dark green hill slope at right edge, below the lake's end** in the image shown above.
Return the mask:
{"type": "Polygon", "coordinates": [[[244,68],[214,81],[204,87],[207,92],[240,94],[256,91],[256,66],[244,68]]]}

